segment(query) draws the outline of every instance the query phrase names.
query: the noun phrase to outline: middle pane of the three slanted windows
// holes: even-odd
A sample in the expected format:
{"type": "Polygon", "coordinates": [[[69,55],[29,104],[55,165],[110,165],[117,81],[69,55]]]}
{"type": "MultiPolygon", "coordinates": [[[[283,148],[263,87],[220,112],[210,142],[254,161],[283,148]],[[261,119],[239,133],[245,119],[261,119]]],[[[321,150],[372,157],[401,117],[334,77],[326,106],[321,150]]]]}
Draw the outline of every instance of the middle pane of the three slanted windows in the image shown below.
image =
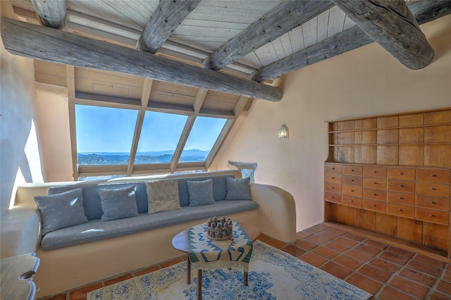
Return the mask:
{"type": "Polygon", "coordinates": [[[146,111],[135,163],[171,163],[187,115],[146,111]]]}

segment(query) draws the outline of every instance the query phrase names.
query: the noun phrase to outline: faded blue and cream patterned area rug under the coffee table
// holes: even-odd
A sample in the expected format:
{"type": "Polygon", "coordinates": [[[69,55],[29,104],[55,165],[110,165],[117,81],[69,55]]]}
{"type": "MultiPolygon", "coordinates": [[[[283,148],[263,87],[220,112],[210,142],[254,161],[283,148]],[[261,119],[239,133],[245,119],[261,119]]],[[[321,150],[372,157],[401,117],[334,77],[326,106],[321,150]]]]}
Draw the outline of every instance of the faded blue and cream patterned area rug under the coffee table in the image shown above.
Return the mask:
{"type": "MultiPolygon", "coordinates": [[[[204,270],[202,299],[369,299],[371,294],[308,263],[254,242],[249,286],[242,270],[204,270]]],[[[87,294],[94,299],[197,299],[197,272],[186,283],[186,262],[118,282],[87,294]]]]}

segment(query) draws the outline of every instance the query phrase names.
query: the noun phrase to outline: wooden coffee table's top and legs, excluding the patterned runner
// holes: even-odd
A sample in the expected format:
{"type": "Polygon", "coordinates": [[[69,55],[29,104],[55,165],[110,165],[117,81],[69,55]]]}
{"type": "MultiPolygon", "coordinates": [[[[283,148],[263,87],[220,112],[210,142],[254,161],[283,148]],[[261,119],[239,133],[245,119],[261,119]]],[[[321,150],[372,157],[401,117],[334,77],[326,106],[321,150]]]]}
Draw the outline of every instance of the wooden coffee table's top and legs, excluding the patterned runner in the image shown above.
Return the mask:
{"type": "MultiPolygon", "coordinates": [[[[246,223],[240,223],[241,227],[245,230],[247,233],[247,236],[249,239],[252,239],[252,242],[254,242],[257,237],[260,235],[260,230],[253,226],[246,223]]],[[[183,230],[182,232],[179,232],[178,235],[175,235],[175,237],[172,239],[172,245],[175,249],[178,251],[185,252],[187,254],[187,284],[191,284],[191,261],[188,257],[188,231],[183,230]]],[[[229,268],[230,270],[230,268],[229,268]]],[[[247,286],[248,284],[248,272],[247,270],[244,271],[244,284],[247,286]]],[[[202,299],[202,269],[197,270],[197,299],[202,299]]]]}

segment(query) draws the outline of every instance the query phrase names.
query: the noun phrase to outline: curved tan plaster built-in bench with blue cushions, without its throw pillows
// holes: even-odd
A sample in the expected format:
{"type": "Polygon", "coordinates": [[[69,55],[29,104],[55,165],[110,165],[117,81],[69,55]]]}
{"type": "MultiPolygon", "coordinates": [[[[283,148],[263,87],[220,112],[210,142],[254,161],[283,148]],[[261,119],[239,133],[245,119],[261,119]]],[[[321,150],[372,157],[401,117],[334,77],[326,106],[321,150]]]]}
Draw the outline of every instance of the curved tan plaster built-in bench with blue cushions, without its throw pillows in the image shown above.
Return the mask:
{"type": "Polygon", "coordinates": [[[116,178],[99,182],[48,182],[18,187],[14,207],[2,220],[2,257],[34,251],[40,259],[34,281],[38,297],[51,296],[90,282],[105,280],[176,258],[171,240],[178,232],[206,222],[214,215],[259,228],[283,242],[296,240],[295,201],[283,189],[249,185],[250,199],[226,200],[226,177],[241,178],[237,170],[208,173],[116,178]],[[190,206],[187,181],[213,180],[214,204],[190,206]],[[148,212],[145,182],[177,180],[181,208],[148,212]],[[100,189],[135,186],[137,216],[102,221],[100,189]],[[35,196],[59,194],[82,187],[87,221],[42,236],[42,220],[35,196]],[[20,230],[17,230],[20,228],[20,230]],[[4,238],[5,237],[5,238],[4,238]]]}

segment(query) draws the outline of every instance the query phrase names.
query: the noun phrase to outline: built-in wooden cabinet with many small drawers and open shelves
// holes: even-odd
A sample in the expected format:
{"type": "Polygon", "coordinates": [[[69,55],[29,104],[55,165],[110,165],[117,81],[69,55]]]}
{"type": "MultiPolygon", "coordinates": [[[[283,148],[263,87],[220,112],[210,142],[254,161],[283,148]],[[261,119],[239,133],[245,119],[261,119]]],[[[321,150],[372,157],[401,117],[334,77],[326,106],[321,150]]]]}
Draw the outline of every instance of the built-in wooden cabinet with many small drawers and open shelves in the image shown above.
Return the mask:
{"type": "Polygon", "coordinates": [[[451,257],[451,108],[328,121],[328,127],[326,221],[451,257]]]}

